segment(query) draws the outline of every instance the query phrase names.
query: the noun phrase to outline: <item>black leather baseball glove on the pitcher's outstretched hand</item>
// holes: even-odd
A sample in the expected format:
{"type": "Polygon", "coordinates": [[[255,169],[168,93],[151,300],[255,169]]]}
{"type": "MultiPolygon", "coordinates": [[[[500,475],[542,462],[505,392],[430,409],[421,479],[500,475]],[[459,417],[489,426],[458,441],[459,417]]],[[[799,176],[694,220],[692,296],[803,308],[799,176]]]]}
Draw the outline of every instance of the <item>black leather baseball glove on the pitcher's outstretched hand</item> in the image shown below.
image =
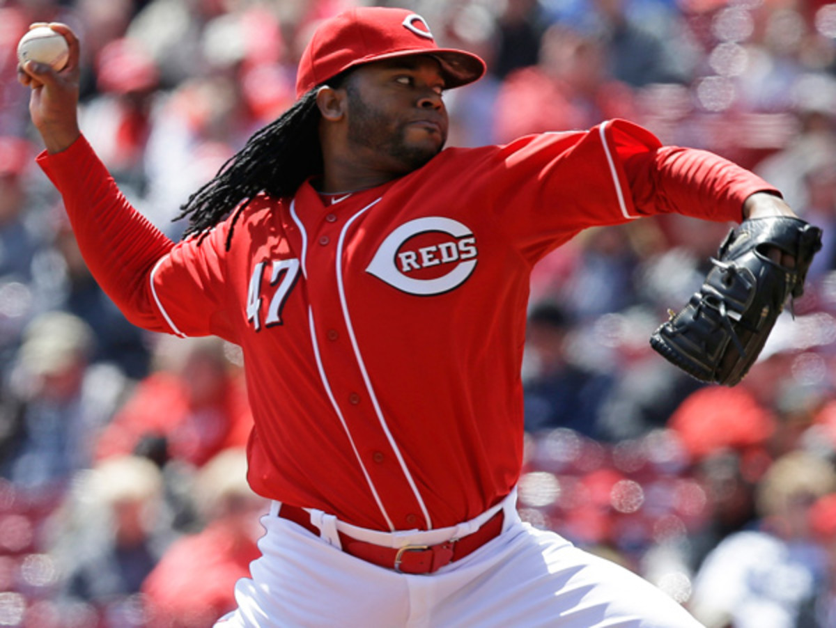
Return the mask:
{"type": "Polygon", "coordinates": [[[818,227],[798,218],[744,220],[711,258],[700,291],[678,314],[671,311],[650,345],[697,379],[734,386],[757,359],[787,298],[802,295],[821,238],[818,227]],[[794,264],[772,259],[787,256],[794,264]]]}

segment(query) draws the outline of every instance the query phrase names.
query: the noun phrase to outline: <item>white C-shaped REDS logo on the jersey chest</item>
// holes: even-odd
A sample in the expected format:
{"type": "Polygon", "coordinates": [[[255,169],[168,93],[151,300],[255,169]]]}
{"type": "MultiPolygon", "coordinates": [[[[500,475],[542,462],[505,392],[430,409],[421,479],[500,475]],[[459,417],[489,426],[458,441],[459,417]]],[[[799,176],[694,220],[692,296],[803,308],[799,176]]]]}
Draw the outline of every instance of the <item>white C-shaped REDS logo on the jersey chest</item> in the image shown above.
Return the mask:
{"type": "Polygon", "coordinates": [[[366,272],[409,294],[430,296],[461,286],[476,268],[476,237],[458,220],[410,220],[380,244],[366,272]]]}

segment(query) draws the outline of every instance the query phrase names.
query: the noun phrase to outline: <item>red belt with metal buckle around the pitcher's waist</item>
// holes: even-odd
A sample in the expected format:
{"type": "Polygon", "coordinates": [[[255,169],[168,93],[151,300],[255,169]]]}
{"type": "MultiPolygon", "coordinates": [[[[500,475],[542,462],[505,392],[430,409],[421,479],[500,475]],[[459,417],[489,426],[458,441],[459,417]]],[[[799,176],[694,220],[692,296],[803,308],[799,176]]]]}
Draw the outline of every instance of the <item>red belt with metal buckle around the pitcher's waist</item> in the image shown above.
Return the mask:
{"type": "MultiPolygon", "coordinates": [[[[304,529],[319,536],[319,528],[311,523],[310,514],[305,509],[282,504],[278,510],[278,516],[293,521],[294,524],[301,525],[304,529]]],[[[482,524],[476,532],[463,536],[461,539],[451,539],[436,545],[406,545],[393,548],[353,539],[339,530],[337,534],[339,534],[343,551],[355,558],[402,574],[431,574],[444,565],[461,560],[489,540],[499,536],[502,532],[502,519],[503,513],[500,510],[482,524]]]]}

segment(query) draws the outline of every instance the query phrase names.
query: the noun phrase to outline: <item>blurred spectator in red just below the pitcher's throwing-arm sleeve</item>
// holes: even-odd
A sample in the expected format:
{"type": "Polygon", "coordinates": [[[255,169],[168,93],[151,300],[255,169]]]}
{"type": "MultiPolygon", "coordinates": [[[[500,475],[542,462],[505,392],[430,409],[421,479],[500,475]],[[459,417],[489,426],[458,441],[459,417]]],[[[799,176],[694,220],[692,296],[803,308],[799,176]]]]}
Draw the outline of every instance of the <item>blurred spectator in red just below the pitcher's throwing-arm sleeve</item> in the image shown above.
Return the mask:
{"type": "Polygon", "coordinates": [[[150,442],[161,462],[200,467],[247,442],[252,418],[239,369],[215,337],[161,337],[155,371],[140,381],[96,443],[98,458],[136,453],[150,442]]]}

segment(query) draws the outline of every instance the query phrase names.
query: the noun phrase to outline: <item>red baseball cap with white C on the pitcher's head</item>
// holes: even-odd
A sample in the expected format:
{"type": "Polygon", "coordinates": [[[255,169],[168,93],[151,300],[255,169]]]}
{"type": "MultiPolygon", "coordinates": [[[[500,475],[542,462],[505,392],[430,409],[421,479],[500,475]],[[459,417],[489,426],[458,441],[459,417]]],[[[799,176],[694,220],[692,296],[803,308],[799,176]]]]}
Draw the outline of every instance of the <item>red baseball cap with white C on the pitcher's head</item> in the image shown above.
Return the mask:
{"type": "Polygon", "coordinates": [[[439,48],[426,20],[408,9],[358,7],[319,25],[299,60],[296,96],[340,72],[385,58],[431,54],[441,63],[446,88],[472,83],[485,73],[476,54],[439,48]]]}

